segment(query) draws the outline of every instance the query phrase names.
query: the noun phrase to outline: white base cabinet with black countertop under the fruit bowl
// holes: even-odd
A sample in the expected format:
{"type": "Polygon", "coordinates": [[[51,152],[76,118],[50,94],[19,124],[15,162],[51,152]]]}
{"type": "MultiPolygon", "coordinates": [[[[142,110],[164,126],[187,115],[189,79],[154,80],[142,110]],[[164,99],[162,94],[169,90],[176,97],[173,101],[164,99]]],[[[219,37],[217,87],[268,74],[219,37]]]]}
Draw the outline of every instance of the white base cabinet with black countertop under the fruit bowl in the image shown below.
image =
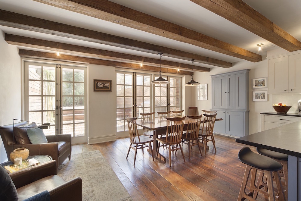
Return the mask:
{"type": "Polygon", "coordinates": [[[278,126],[283,126],[285,124],[290,124],[296,121],[301,121],[301,115],[300,116],[292,116],[292,115],[275,115],[272,114],[275,112],[266,112],[266,113],[261,113],[262,117],[262,123],[261,123],[261,130],[268,130],[271,128],[275,128],[278,126]]]}

